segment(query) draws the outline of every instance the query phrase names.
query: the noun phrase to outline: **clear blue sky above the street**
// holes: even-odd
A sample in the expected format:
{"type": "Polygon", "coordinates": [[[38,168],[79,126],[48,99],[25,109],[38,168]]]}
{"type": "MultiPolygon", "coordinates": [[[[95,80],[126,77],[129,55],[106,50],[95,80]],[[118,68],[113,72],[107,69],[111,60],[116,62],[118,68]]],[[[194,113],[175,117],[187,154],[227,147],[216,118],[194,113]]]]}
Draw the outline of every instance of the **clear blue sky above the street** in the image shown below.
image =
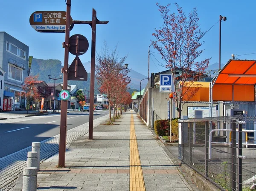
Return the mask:
{"type": "MultiPolygon", "coordinates": [[[[104,41],[110,48],[117,45],[120,57],[128,56],[126,63],[129,68],[148,76],[148,46],[155,28],[163,24],[156,3],[167,5],[171,3],[171,11],[175,10],[173,3],[183,7],[186,14],[196,7],[200,17],[199,24],[202,31],[207,31],[219,19],[219,15],[227,17],[221,23],[221,63],[227,63],[231,54],[238,59],[256,60],[255,20],[256,1],[247,0],[72,0],[71,17],[73,20],[91,20],[92,8],[96,9],[97,17],[102,21],[109,21],[107,25],[97,25],[96,51],[100,51],[104,41]],[[246,2],[246,3],[245,3],[246,2]]],[[[64,62],[64,33],[39,33],[32,29],[29,17],[34,11],[66,11],[65,0],[5,0],[0,7],[0,31],[17,38],[29,46],[29,56],[40,59],[58,59],[64,62]]],[[[89,41],[87,53],[80,56],[84,63],[90,61],[91,28],[89,25],[75,25],[70,31],[82,34],[89,41]]],[[[212,57],[210,64],[218,63],[219,23],[205,34],[202,48],[204,53],[198,59],[212,57]]],[[[150,73],[166,70],[158,65],[161,60],[153,46],[150,48],[150,73]],[[157,60],[154,58],[156,57],[157,60]]],[[[75,56],[69,54],[69,63],[75,56]]],[[[87,69],[87,68],[86,68],[87,69]]],[[[87,69],[88,72],[90,70],[87,69]]]]}

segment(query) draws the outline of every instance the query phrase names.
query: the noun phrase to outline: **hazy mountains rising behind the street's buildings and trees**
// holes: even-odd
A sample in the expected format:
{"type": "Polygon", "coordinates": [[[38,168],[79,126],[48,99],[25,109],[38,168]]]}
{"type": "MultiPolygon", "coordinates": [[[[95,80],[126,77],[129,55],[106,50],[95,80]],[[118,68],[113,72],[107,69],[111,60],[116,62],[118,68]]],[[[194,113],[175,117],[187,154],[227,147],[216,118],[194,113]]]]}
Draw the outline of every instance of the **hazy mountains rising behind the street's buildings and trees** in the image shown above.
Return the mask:
{"type": "MultiPolygon", "coordinates": [[[[88,73],[88,79],[87,81],[74,81],[74,80],[68,80],[68,85],[77,85],[79,89],[86,88],[86,90],[90,89],[90,63],[86,62],[83,63],[84,68],[86,69],[88,73]]],[[[63,66],[61,65],[60,60],[43,60],[43,59],[37,59],[33,58],[32,60],[32,66],[30,75],[37,75],[39,74],[38,80],[43,80],[46,83],[54,83],[54,80],[51,80],[48,78],[48,75],[51,75],[51,78],[59,78],[61,74],[61,68],[63,66]]],[[[146,78],[146,76],[138,73],[137,71],[131,70],[128,74],[131,77],[131,83],[130,88],[140,90],[140,80],[143,78],[146,78]]],[[[61,83],[63,82],[63,79],[56,80],[55,83],[61,83]]],[[[147,85],[148,80],[143,80],[141,82],[141,89],[145,88],[147,85]]],[[[95,80],[95,88],[94,92],[95,94],[99,94],[99,85],[97,83],[97,80],[95,80]]]]}

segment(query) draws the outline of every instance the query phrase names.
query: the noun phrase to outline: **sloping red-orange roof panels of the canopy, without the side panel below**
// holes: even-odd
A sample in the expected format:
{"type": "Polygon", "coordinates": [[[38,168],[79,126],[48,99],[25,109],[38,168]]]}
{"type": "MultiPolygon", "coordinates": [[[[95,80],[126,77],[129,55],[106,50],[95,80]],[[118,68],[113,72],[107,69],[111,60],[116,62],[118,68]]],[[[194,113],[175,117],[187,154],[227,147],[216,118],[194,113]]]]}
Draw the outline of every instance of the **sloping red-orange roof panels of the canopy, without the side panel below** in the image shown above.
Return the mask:
{"type": "Polygon", "coordinates": [[[254,85],[256,84],[256,60],[229,60],[215,78],[213,79],[215,84],[254,85]]]}

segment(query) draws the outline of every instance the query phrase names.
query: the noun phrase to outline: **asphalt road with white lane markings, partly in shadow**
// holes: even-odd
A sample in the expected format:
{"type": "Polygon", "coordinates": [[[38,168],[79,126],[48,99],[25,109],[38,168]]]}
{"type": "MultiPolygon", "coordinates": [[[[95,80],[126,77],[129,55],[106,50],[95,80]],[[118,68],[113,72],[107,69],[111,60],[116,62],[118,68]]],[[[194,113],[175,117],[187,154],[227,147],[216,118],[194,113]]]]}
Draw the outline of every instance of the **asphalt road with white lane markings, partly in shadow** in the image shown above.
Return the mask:
{"type": "MultiPolygon", "coordinates": [[[[93,119],[109,114],[94,111],[93,119]]],[[[22,117],[0,121],[0,158],[41,142],[60,132],[60,114],[22,117]]],[[[67,114],[67,130],[89,122],[89,112],[74,111],[67,114]]]]}

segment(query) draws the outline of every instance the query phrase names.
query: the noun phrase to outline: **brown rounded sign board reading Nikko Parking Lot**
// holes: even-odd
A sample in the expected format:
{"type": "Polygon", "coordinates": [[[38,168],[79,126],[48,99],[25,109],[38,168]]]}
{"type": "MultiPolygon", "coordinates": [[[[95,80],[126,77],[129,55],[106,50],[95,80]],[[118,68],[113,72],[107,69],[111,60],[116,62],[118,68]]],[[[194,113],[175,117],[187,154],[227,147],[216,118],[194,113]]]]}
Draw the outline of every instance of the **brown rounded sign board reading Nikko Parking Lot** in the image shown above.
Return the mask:
{"type": "Polygon", "coordinates": [[[65,32],[66,11],[35,11],[29,17],[29,23],[38,32],[65,32]]]}

